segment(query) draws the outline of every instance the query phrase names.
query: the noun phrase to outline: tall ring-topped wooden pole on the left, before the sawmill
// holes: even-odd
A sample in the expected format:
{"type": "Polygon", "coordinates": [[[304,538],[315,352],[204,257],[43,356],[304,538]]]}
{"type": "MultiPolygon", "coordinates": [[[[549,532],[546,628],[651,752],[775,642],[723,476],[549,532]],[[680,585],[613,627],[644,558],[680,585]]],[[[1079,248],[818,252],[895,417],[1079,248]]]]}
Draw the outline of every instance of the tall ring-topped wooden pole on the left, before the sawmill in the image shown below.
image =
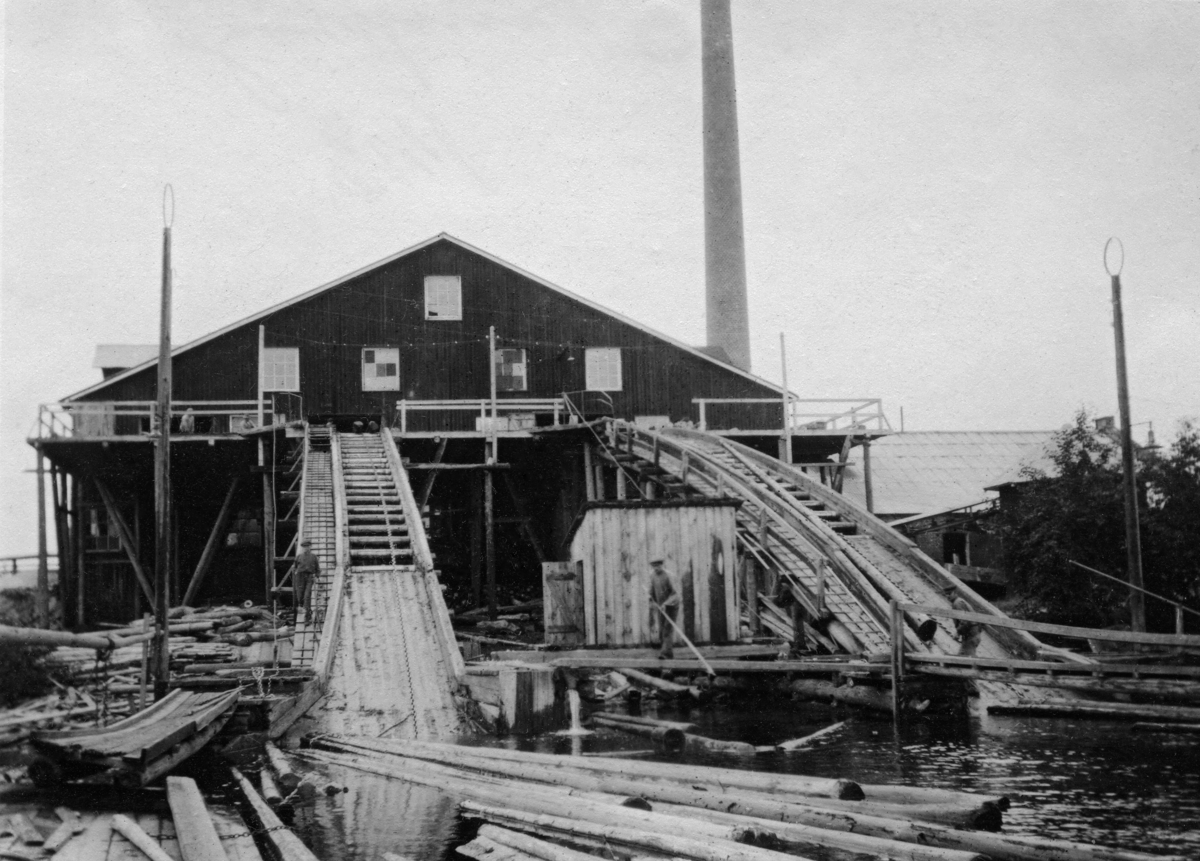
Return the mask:
{"type": "Polygon", "coordinates": [[[170,225],[175,218],[175,193],[163,189],[162,318],[158,330],[158,438],[154,462],[155,513],[155,637],[154,696],[167,696],[170,657],[167,651],[167,590],[170,584],[170,225]]]}

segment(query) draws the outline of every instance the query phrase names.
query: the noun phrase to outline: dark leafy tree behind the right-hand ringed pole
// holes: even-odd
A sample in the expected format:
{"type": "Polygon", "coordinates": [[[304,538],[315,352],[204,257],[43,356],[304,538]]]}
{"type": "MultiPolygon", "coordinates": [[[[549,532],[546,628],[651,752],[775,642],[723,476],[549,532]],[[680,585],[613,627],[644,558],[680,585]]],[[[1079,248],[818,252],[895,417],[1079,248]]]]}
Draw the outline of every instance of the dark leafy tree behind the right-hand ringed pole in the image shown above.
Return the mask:
{"type": "MultiPolygon", "coordinates": [[[[1015,502],[996,531],[1009,588],[1024,615],[1104,627],[1129,620],[1129,590],[1070,565],[1124,577],[1124,496],[1120,446],[1080,411],[1055,434],[1052,472],[1022,470],[1015,502]]],[[[1141,453],[1138,475],[1145,588],[1200,597],[1200,434],[1184,423],[1165,454],[1141,453]]],[[[1151,630],[1174,630],[1174,609],[1146,601],[1151,630]]],[[[1195,620],[1194,620],[1195,621],[1195,620]]],[[[1193,627],[1193,630],[1195,630],[1193,627]]]]}

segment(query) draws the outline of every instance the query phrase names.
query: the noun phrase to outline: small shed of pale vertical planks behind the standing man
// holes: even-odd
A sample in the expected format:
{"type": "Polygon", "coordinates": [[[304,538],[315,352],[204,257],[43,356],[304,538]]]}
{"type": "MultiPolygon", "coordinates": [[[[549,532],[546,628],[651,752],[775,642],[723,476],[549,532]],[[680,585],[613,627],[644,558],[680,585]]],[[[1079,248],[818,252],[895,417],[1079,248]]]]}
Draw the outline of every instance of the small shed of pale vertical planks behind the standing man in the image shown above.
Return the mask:
{"type": "Polygon", "coordinates": [[[688,638],[737,639],[738,505],[733,499],[587,504],[571,536],[570,561],[546,566],[547,642],[652,643],[650,560],[660,558],[676,578],[688,638]]]}

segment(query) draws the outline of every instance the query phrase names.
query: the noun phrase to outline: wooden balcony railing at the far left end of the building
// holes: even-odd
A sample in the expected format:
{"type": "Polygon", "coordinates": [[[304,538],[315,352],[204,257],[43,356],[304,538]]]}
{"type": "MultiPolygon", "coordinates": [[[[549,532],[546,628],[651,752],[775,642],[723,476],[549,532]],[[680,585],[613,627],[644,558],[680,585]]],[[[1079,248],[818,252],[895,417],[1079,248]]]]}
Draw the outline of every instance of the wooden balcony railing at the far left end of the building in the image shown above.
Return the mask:
{"type": "MultiPolygon", "coordinates": [[[[34,438],[107,439],[143,436],[155,433],[157,404],[154,401],[72,401],[41,404],[34,438]]],[[[226,436],[258,427],[257,401],[173,401],[172,429],[180,436],[226,436]],[[191,431],[187,427],[191,426],[191,431]]],[[[271,402],[263,402],[263,422],[283,420],[271,402]]]]}

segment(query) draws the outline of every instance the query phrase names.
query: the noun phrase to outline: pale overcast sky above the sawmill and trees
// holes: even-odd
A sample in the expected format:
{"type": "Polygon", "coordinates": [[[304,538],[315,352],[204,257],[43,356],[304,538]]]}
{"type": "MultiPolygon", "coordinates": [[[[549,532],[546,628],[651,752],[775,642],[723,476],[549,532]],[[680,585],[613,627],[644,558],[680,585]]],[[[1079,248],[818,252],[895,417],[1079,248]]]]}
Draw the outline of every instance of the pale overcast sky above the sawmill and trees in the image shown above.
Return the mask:
{"type": "MultiPolygon", "coordinates": [[[[0,554],[38,402],[439,231],[700,344],[695,0],[8,0],[0,554]]],[[[734,0],[754,371],[907,429],[1200,415],[1200,5],[734,0]]],[[[1144,432],[1145,428],[1140,428],[1144,432]]],[[[52,536],[53,541],[53,536],[52,536]]]]}

